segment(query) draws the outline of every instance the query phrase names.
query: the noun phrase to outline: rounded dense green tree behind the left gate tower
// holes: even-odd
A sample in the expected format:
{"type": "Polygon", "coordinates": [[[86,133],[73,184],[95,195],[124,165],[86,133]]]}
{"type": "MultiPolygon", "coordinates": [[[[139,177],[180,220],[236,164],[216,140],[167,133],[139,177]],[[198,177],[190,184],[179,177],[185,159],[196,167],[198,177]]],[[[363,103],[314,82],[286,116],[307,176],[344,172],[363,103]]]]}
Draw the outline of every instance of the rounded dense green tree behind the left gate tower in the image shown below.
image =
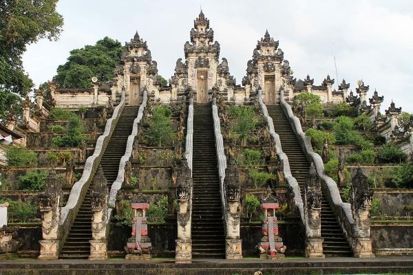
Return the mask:
{"type": "Polygon", "coordinates": [[[67,62],[57,68],[56,81],[63,88],[88,88],[92,76],[99,81],[111,80],[123,50],[119,41],[107,36],[95,45],[72,50],[67,62]]]}

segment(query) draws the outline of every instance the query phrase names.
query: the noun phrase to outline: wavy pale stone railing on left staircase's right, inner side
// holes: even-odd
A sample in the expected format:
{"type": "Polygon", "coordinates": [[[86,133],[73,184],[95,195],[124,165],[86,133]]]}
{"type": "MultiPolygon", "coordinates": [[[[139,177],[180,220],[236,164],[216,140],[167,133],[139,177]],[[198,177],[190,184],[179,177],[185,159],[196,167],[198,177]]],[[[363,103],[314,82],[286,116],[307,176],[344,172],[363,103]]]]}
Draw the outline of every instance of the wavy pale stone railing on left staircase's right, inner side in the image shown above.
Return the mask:
{"type": "Polygon", "coordinates": [[[110,188],[108,203],[109,203],[109,206],[111,206],[111,208],[109,208],[107,212],[108,213],[107,221],[110,220],[110,215],[112,213],[112,207],[114,207],[115,202],[116,202],[116,195],[118,195],[118,191],[122,187],[123,181],[125,180],[125,165],[126,165],[126,162],[128,162],[129,159],[131,158],[133,146],[134,146],[134,140],[136,138],[136,135],[138,135],[138,124],[140,120],[142,120],[143,111],[145,111],[146,105],[147,105],[147,90],[144,89],[142,103],[140,104],[138,115],[134,120],[134,125],[132,126],[132,132],[129,135],[129,137],[127,137],[125,154],[123,155],[123,157],[120,158],[118,177],[116,177],[116,180],[113,182],[112,187],[110,188]]]}

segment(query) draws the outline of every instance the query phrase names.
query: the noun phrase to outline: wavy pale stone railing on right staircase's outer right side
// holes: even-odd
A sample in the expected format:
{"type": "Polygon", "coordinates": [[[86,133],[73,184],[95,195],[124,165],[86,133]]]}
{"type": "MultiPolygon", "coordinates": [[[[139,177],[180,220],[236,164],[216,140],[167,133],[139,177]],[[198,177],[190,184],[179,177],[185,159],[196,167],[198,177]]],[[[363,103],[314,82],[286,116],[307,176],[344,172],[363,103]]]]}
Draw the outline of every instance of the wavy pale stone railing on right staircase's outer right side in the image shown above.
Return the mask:
{"type": "Polygon", "coordinates": [[[299,119],[294,115],[293,110],[284,100],[284,89],[280,89],[279,98],[282,108],[286,113],[290,124],[293,126],[293,131],[298,137],[301,148],[303,148],[304,153],[310,162],[313,162],[319,177],[321,178],[322,188],[324,194],[326,195],[330,206],[332,206],[335,216],[338,218],[341,228],[343,228],[344,233],[354,251],[355,245],[357,243],[357,228],[352,217],[350,203],[344,203],[341,200],[339,188],[337,188],[337,183],[331,177],[328,177],[324,173],[324,163],[320,155],[313,151],[313,146],[311,146],[310,139],[306,136],[301,128],[301,123],[299,119]]]}

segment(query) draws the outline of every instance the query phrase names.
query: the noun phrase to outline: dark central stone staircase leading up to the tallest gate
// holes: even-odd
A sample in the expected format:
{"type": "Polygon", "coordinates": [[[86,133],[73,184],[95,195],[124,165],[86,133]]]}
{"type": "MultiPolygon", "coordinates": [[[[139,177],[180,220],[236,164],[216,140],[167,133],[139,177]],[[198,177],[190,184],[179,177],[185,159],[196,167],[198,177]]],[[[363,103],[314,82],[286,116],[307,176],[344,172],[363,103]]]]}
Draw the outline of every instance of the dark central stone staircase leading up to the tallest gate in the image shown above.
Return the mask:
{"type": "Polygon", "coordinates": [[[224,221],[211,103],[193,106],[193,258],[225,258],[224,221]]]}

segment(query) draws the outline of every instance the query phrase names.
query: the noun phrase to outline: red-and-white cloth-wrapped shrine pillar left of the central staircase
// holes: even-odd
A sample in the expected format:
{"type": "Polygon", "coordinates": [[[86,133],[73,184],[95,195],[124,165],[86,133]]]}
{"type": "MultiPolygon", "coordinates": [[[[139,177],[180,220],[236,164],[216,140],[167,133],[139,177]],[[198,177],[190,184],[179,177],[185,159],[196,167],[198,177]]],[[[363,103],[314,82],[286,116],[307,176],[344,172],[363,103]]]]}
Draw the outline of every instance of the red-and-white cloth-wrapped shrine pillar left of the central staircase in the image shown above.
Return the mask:
{"type": "Polygon", "coordinates": [[[149,260],[151,259],[151,239],[148,237],[148,225],[146,210],[149,203],[142,194],[131,198],[131,208],[134,210],[132,223],[132,236],[127,240],[125,256],[126,260],[149,260]]]}

